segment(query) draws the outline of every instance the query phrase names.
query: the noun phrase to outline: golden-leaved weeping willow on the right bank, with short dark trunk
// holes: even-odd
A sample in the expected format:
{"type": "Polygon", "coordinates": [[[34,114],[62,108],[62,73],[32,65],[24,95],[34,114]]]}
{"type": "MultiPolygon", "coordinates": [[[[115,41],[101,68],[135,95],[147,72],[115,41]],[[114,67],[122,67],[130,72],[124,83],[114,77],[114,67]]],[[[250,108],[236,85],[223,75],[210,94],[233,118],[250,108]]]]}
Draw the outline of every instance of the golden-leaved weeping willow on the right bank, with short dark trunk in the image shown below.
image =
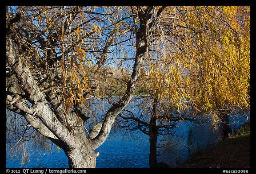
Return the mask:
{"type": "MultiPolygon", "coordinates": [[[[250,108],[250,7],[176,6],[160,20],[166,53],[150,64],[152,85],[180,112],[194,108],[222,122],[250,108]],[[158,81],[158,82],[157,82],[158,81]],[[189,107],[188,107],[189,106],[189,107]]],[[[159,44],[158,44],[159,45],[159,44]]]]}

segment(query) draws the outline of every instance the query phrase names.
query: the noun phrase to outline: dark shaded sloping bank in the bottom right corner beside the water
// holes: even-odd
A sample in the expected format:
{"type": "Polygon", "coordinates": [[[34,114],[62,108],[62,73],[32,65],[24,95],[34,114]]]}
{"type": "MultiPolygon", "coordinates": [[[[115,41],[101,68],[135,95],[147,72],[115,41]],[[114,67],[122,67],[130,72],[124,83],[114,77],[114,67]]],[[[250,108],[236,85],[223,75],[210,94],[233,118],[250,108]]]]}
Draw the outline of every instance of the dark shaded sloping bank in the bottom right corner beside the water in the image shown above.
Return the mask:
{"type": "Polygon", "coordinates": [[[242,126],[230,138],[195,154],[178,168],[250,168],[250,125],[242,126]]]}

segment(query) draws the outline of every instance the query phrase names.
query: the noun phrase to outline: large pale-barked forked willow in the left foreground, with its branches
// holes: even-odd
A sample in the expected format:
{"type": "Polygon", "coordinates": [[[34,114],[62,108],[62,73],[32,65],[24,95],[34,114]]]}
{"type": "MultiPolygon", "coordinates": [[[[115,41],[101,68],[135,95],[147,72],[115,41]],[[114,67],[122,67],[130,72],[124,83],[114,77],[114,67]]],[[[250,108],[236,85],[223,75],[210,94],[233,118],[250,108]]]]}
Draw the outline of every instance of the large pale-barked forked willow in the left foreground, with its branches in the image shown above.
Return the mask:
{"type": "Polygon", "coordinates": [[[69,167],[94,168],[94,151],[131,100],[149,32],[164,8],[20,6],[15,14],[6,7],[6,108],[62,148],[69,167]],[[109,61],[128,58],[117,50],[134,50],[132,73],[122,79],[120,100],[87,135],[86,98],[106,89],[109,61]]]}

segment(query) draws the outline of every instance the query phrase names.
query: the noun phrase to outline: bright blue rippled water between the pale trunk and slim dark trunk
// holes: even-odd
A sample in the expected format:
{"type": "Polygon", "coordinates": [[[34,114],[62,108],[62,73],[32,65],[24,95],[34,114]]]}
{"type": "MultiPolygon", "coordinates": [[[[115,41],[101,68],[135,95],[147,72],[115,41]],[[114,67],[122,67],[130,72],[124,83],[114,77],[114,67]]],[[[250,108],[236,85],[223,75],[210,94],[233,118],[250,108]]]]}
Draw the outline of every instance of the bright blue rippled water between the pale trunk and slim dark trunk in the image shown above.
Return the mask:
{"type": "Polygon", "coordinates": [[[96,168],[149,168],[148,136],[142,133],[137,136],[111,136],[98,148],[96,168]]]}

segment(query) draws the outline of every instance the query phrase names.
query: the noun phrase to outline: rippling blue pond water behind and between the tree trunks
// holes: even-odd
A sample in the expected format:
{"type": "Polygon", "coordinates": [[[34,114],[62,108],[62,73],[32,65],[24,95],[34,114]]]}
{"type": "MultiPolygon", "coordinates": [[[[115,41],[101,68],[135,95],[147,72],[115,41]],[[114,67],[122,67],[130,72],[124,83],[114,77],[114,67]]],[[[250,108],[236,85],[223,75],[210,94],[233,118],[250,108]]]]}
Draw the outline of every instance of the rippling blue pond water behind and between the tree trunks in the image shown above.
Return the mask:
{"type": "MultiPolygon", "coordinates": [[[[250,113],[247,113],[250,117],[250,113]]],[[[230,126],[235,131],[247,120],[247,116],[236,116],[230,118],[230,126]]],[[[188,159],[188,132],[191,130],[193,142],[190,144],[192,150],[205,149],[216,144],[220,139],[220,126],[214,129],[212,124],[179,123],[175,128],[176,133],[168,138],[159,137],[160,145],[168,146],[161,148],[157,157],[158,162],[165,162],[175,167],[176,164],[188,159]]],[[[149,168],[149,137],[140,131],[129,132],[126,129],[111,131],[108,139],[95,152],[99,151],[96,168],[149,168]]],[[[7,150],[8,152],[8,150],[7,150]]],[[[21,168],[68,168],[68,159],[64,151],[53,148],[48,151],[34,151],[21,168]]],[[[10,159],[6,153],[6,168],[20,168],[21,159],[10,159]]]]}

